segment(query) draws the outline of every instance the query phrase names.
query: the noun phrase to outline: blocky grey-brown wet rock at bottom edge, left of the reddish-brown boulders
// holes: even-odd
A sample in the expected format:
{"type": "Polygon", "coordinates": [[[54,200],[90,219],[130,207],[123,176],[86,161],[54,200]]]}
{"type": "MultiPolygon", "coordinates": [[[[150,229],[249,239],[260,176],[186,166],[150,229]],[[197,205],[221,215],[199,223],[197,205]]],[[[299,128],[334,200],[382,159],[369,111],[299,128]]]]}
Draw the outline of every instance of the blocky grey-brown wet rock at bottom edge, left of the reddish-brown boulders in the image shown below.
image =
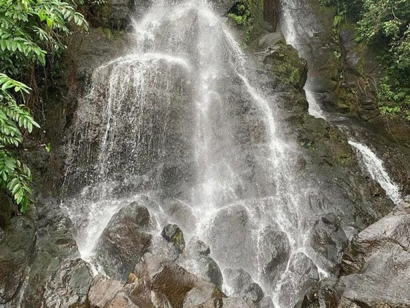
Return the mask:
{"type": "Polygon", "coordinates": [[[85,305],[91,281],[91,268],[86,261],[64,261],[47,281],[42,307],[65,308],[85,305]]]}

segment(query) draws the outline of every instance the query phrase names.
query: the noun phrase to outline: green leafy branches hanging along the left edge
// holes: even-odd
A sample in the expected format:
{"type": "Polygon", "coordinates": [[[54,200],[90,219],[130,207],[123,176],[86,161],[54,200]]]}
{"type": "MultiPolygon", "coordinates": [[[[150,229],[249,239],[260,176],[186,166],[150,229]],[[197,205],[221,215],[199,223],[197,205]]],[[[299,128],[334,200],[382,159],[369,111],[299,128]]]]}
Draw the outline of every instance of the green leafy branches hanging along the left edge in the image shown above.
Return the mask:
{"type": "Polygon", "coordinates": [[[31,171],[13,155],[24,132],[39,127],[24,106],[30,88],[23,82],[28,71],[46,65],[66,46],[70,24],[87,28],[75,4],[62,0],[0,0],[0,187],[6,189],[24,213],[31,202],[31,171]]]}

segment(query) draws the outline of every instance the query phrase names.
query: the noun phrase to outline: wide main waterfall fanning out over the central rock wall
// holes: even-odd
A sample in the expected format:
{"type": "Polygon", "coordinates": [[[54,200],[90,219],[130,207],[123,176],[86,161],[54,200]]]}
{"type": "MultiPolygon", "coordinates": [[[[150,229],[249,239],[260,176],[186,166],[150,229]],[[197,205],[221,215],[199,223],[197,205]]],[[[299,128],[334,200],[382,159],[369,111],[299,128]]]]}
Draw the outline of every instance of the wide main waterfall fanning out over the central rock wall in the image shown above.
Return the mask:
{"type": "Polygon", "coordinates": [[[298,149],[281,136],[275,98],[251,85],[207,4],[157,1],[133,41],[95,70],[72,126],[63,204],[81,256],[95,263],[110,217],[149,199],[158,234],[178,224],[222,269],[245,269],[277,307],[293,307],[324,272],[309,247],[315,214],[300,206],[312,188],[294,175],[298,149]]]}

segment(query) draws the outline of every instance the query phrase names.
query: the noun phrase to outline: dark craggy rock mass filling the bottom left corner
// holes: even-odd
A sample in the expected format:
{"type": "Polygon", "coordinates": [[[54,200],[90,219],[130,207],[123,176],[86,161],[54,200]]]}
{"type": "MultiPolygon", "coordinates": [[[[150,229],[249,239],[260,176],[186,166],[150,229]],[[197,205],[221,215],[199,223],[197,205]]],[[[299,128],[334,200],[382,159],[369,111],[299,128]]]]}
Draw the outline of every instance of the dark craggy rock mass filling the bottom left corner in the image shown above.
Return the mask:
{"type": "Polygon", "coordinates": [[[0,229],[0,305],[63,308],[87,302],[91,270],[79,259],[70,219],[55,203],[37,203],[36,224],[33,217],[17,216],[0,229]]]}

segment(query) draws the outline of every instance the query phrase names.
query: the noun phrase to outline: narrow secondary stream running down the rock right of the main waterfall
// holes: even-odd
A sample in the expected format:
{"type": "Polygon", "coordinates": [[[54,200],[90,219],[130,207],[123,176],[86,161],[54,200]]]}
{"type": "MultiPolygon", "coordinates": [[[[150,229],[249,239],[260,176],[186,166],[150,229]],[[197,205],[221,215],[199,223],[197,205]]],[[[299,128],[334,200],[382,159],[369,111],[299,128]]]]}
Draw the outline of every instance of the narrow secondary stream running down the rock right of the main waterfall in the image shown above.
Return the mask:
{"type": "MultiPolygon", "coordinates": [[[[305,0],[281,0],[282,15],[280,21],[280,31],[285,36],[286,42],[291,44],[300,54],[301,57],[312,64],[314,53],[320,56],[321,47],[314,48],[316,35],[324,32],[323,25],[317,20],[316,14],[313,11],[308,1],[305,0]]],[[[306,100],[309,103],[309,113],[316,118],[322,118],[328,122],[338,124],[335,117],[323,111],[318,103],[318,93],[315,92],[314,78],[320,75],[320,69],[311,67],[308,72],[308,79],[304,87],[306,100]],[[333,121],[336,120],[336,121],[333,121]]],[[[339,126],[340,128],[340,126],[339,126]]],[[[365,171],[371,175],[372,179],[379,182],[380,186],[386,190],[386,194],[394,203],[402,200],[400,189],[388,176],[383,167],[381,160],[377,155],[366,145],[358,141],[350,141],[349,144],[360,153],[361,161],[365,167],[365,171]]]]}

